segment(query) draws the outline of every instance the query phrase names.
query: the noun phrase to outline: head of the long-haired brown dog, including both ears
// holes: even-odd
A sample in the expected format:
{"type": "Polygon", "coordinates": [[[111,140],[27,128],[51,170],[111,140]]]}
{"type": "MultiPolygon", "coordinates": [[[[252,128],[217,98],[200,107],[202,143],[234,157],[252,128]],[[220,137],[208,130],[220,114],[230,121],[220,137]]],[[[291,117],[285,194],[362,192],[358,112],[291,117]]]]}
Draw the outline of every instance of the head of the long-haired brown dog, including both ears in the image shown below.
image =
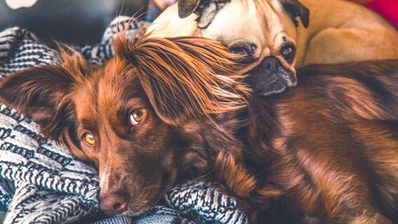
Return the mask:
{"type": "Polygon", "coordinates": [[[95,162],[103,211],[139,214],[177,178],[212,167],[196,146],[219,149],[223,138],[236,141],[226,134],[236,123],[216,127],[210,114],[245,107],[247,89],[234,80],[242,77],[226,73],[231,61],[213,41],[121,38],[115,48],[116,57],[99,67],[62,51],[62,64],[1,80],[0,95],[46,137],[95,162]]]}

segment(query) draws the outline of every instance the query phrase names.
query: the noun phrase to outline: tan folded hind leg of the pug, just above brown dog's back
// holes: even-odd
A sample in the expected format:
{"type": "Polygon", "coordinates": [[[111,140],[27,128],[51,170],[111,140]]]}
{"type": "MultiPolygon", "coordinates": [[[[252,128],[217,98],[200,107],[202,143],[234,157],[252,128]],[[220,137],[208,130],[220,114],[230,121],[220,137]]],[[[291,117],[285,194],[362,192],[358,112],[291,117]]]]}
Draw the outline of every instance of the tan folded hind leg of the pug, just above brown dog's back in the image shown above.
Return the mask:
{"type": "Polygon", "coordinates": [[[299,66],[341,63],[348,58],[352,61],[398,58],[397,39],[396,34],[385,29],[324,29],[311,38],[299,66]]]}

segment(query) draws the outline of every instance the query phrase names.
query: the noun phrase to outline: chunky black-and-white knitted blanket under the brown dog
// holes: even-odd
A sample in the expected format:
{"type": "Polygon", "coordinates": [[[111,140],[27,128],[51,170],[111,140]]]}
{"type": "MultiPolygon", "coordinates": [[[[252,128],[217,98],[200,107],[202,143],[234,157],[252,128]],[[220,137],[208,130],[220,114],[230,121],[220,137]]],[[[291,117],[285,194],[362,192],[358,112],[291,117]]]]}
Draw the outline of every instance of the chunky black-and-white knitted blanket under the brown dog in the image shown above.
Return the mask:
{"type": "MultiPolygon", "coordinates": [[[[90,63],[102,64],[114,55],[112,36],[126,26],[132,34],[144,23],[118,17],[101,43],[75,48],[90,63]]],[[[30,66],[58,63],[57,54],[26,29],[6,29],[0,32],[0,78],[30,66]]],[[[139,217],[114,216],[97,223],[248,223],[238,202],[219,193],[214,183],[188,181],[175,186],[165,201],[167,207],[153,207],[139,217]]],[[[97,170],[42,137],[32,120],[0,104],[0,204],[8,209],[6,224],[81,223],[99,212],[97,170]]]]}

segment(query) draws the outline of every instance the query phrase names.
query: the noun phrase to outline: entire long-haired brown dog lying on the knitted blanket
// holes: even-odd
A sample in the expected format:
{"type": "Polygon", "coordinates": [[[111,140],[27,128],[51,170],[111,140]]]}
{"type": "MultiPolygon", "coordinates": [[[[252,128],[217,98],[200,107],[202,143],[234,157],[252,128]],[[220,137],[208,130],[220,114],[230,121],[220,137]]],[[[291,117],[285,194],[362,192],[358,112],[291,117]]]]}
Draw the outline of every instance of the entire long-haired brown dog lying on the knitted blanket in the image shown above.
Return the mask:
{"type": "Polygon", "coordinates": [[[234,59],[197,38],[118,41],[104,67],[66,56],[8,76],[0,97],[96,162],[108,214],[214,170],[259,223],[275,201],[291,223],[398,221],[398,61],[311,66],[245,109],[234,59]]]}

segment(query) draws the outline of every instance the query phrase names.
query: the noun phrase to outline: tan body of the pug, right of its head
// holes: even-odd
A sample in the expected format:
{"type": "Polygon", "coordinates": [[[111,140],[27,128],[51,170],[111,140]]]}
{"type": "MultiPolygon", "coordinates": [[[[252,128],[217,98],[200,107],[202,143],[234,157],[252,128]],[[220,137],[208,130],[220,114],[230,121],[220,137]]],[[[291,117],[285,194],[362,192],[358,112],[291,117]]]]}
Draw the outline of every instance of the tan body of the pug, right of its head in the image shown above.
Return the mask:
{"type": "Polygon", "coordinates": [[[298,27],[297,66],[398,58],[398,32],[380,15],[343,0],[300,0],[310,27],[298,27]]]}

